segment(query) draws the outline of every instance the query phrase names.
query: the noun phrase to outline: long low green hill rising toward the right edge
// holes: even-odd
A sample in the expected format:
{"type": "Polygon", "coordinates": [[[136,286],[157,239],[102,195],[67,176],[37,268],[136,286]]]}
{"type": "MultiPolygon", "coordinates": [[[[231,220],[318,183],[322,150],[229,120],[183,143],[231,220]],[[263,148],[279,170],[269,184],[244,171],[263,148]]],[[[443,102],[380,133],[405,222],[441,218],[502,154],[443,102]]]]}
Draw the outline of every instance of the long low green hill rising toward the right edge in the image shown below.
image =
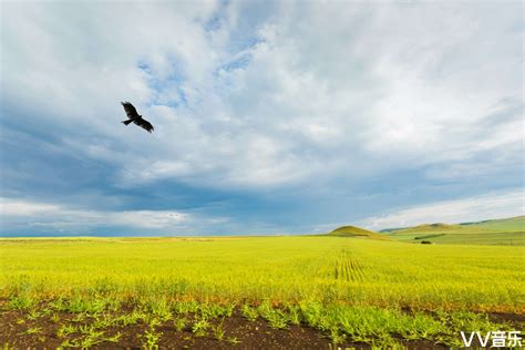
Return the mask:
{"type": "Polygon", "coordinates": [[[525,216],[462,224],[424,224],[388,231],[392,239],[420,243],[525,245],[525,216]]]}

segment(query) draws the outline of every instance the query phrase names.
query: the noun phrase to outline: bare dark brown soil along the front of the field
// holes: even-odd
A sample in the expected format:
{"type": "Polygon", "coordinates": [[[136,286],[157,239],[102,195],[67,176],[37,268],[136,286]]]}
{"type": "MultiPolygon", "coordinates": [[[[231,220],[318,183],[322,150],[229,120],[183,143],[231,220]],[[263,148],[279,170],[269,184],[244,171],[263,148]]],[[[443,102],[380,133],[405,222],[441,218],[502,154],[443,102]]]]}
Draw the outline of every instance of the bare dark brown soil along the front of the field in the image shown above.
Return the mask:
{"type": "MultiPolygon", "coordinates": [[[[65,339],[74,340],[80,333],[72,333],[63,338],[58,337],[62,325],[89,326],[91,319],[74,322],[76,315],[59,312],[60,319],[50,316],[29,320],[27,313],[19,310],[0,311],[0,347],[9,349],[55,349],[65,339]],[[29,332],[28,332],[29,330],[29,332]],[[32,330],[32,331],[31,331],[32,330]],[[35,331],[37,330],[37,331],[35,331]]],[[[209,320],[213,327],[218,326],[222,319],[209,320]]],[[[119,341],[99,342],[97,349],[140,349],[146,341],[145,332],[148,326],[143,321],[130,326],[109,327],[104,329],[107,337],[121,333],[119,341]]],[[[161,349],[370,349],[361,342],[331,343],[330,339],[320,331],[310,327],[288,326],[286,329],[274,329],[262,319],[249,321],[239,313],[224,318],[224,337],[218,340],[212,329],[202,337],[197,337],[187,327],[177,331],[173,320],[155,327],[155,333],[162,333],[158,339],[161,349]]],[[[409,349],[444,349],[441,344],[430,341],[402,341],[409,349]]]]}

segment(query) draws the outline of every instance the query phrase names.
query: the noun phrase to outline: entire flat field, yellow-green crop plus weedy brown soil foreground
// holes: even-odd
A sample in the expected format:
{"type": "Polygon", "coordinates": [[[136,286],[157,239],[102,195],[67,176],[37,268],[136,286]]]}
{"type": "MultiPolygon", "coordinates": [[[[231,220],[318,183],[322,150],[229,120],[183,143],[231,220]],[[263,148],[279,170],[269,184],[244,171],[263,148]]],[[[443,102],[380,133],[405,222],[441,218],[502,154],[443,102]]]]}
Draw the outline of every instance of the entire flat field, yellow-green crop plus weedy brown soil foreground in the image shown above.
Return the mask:
{"type": "Polygon", "coordinates": [[[522,330],[523,246],[0,239],[6,348],[440,348],[522,330]]]}

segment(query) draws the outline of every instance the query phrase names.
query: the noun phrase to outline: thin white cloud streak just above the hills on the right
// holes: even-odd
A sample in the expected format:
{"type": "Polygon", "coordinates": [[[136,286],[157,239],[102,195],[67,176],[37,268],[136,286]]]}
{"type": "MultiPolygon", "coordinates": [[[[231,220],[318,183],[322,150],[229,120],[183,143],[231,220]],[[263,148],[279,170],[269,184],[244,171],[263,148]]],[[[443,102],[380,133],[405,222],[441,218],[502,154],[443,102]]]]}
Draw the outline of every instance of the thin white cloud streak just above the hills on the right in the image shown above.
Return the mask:
{"type": "Polygon", "coordinates": [[[371,229],[405,227],[432,223],[464,223],[525,215],[522,191],[492,193],[455,200],[430,203],[383,216],[361,219],[359,225],[371,229]]]}

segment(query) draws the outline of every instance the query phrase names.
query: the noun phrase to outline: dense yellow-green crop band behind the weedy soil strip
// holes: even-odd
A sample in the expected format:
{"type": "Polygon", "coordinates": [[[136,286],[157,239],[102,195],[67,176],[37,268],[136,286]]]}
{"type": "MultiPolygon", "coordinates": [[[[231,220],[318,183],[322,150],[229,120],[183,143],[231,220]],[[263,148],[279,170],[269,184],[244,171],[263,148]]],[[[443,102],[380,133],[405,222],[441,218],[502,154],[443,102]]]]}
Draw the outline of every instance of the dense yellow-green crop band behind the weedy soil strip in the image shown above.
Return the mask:
{"type": "Polygon", "coordinates": [[[525,311],[524,247],[343,237],[0,240],[0,297],[525,311]]]}

